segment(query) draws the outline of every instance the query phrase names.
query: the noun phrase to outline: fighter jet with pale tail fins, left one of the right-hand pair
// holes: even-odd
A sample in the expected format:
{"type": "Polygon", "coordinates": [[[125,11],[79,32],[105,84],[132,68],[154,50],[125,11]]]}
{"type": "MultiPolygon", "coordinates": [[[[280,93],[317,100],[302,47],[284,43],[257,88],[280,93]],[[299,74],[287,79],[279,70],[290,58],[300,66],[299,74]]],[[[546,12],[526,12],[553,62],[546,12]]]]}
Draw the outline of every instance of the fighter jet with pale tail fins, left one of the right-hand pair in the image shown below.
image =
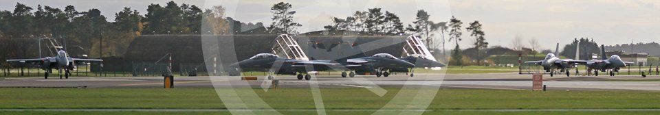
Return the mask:
{"type": "Polygon", "coordinates": [[[555,56],[555,54],[557,54],[558,51],[559,51],[559,43],[557,44],[555,53],[548,53],[545,56],[544,60],[528,61],[525,62],[525,64],[536,64],[543,66],[543,70],[545,70],[546,72],[550,72],[550,76],[552,77],[555,73],[555,69],[559,69],[560,72],[566,72],[566,76],[570,76],[571,72],[569,72],[569,69],[575,68],[577,64],[584,64],[587,62],[582,60],[560,59],[559,57],[555,56]]]}

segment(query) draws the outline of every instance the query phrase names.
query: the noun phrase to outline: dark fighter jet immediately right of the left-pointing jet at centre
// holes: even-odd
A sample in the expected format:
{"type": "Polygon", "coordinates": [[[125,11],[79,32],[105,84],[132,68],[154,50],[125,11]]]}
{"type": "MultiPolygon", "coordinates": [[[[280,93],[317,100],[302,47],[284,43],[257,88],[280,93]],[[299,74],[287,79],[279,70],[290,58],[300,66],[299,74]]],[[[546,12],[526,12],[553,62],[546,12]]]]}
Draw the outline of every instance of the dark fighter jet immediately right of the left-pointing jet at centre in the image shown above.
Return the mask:
{"type": "MultiPolygon", "coordinates": [[[[410,77],[412,77],[412,68],[415,67],[415,64],[401,60],[388,53],[378,53],[370,57],[352,58],[348,59],[345,63],[344,66],[351,70],[351,77],[355,76],[354,71],[375,73],[376,77],[380,77],[381,75],[388,77],[392,72],[410,72],[410,77]]],[[[346,76],[346,72],[342,72],[342,77],[346,76]]]]}

